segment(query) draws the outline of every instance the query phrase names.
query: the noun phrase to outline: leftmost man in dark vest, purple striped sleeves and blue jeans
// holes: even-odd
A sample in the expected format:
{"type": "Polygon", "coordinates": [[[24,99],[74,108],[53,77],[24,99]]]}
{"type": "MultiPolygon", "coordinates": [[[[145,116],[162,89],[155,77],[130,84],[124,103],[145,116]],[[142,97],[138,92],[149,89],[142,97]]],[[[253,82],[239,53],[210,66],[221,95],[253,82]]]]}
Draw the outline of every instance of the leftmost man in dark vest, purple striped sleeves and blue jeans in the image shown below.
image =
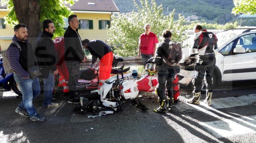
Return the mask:
{"type": "Polygon", "coordinates": [[[18,42],[20,49],[17,45],[11,44],[8,49],[8,60],[10,66],[14,71],[14,79],[20,87],[22,93],[22,102],[15,110],[16,113],[23,115],[24,117],[30,117],[32,121],[43,121],[45,117],[36,113],[33,106],[33,99],[35,99],[40,93],[40,85],[38,78],[31,78],[28,74],[28,69],[36,64],[34,60],[35,54],[32,49],[32,45],[28,42],[27,28],[25,24],[17,24],[14,26],[15,35],[12,41],[18,42]]]}

